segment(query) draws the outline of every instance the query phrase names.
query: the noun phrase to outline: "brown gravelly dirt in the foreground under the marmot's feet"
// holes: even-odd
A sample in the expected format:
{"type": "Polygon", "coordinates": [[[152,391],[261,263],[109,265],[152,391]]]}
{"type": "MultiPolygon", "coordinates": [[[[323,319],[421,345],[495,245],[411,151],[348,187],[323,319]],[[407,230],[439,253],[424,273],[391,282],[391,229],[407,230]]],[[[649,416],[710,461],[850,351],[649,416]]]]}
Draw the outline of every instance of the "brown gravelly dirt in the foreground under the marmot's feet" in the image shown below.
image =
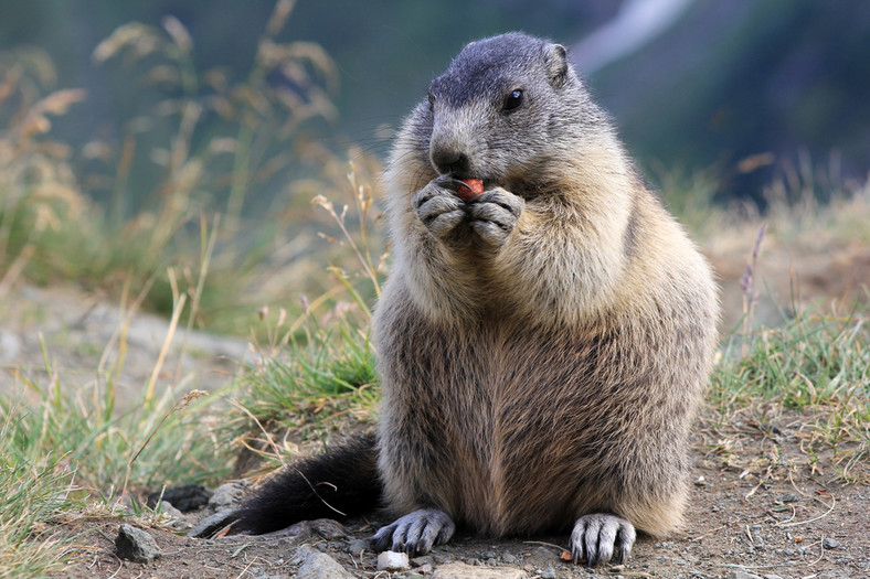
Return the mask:
{"type": "MultiPolygon", "coordinates": [[[[388,573],[378,571],[375,554],[359,553],[359,543],[352,543],[371,535],[375,519],[323,524],[320,533],[306,529],[296,537],[279,533],[213,540],[150,528],[163,556],[135,564],[115,554],[118,521],[88,521],[71,528],[82,534],[86,557],[59,577],[288,578],[296,577],[299,565],[294,559],[300,545],[330,555],[353,577],[384,579],[427,577],[447,561],[519,569],[529,579],[870,577],[870,486],[836,482],[827,458],[809,463],[800,444],[811,417],[781,415],[764,430],[741,418],[719,428],[701,425],[683,533],[668,540],[640,537],[620,568],[590,570],[562,561],[566,535],[492,540],[460,532],[431,557],[412,559],[421,567],[388,573]]],[[[864,471],[866,462],[860,467],[864,471]]]]}

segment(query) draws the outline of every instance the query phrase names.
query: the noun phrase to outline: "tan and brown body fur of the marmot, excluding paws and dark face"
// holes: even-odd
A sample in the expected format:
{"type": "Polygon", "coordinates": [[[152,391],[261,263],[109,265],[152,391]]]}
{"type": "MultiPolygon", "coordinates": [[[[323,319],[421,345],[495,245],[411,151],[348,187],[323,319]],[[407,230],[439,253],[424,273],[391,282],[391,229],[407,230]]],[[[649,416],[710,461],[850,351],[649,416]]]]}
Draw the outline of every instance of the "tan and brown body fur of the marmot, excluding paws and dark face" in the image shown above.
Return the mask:
{"type": "MultiPolygon", "coordinates": [[[[524,206],[495,249],[469,233],[433,236],[412,202],[439,172],[432,116],[478,146],[490,103],[422,104],[397,138],[385,178],[395,264],[374,321],[379,469],[396,514],[434,507],[489,535],[570,528],[590,513],[655,536],[681,522],[717,290],[567,74],[583,107],[558,111],[563,139],[542,131],[533,162],[499,173],[494,185],[516,184],[524,206]]],[[[511,154],[501,147],[477,167],[511,154]]]]}

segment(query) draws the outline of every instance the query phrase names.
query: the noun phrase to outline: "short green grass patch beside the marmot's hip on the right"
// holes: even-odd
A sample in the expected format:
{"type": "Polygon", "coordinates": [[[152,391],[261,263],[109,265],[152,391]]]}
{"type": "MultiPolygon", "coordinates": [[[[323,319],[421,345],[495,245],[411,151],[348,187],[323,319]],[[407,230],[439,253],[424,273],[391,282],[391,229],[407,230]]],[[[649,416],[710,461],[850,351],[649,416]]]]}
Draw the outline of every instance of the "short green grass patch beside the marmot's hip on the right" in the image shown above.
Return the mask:
{"type": "MultiPolygon", "coordinates": [[[[828,455],[842,482],[870,483],[870,312],[799,311],[732,339],[708,398],[719,423],[749,415],[762,431],[789,423],[810,462],[828,455]]],[[[734,336],[732,336],[734,337],[734,336]]]]}

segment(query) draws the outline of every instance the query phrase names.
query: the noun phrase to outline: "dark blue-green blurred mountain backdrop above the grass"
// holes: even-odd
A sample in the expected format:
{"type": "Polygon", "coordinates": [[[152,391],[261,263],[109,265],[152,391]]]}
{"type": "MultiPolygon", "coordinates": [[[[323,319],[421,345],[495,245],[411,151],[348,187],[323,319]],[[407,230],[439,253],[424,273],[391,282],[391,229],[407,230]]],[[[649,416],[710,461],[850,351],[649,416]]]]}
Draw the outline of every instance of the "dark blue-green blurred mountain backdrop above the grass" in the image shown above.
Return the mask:
{"type": "MultiPolygon", "coordinates": [[[[233,83],[254,66],[275,8],[270,0],[2,4],[0,49],[38,50],[54,65],[46,85],[87,92],[54,133],[71,143],[99,138],[118,148],[132,130],[155,142],[165,140],[161,130],[173,132],[177,119],[148,131],[134,120],[157,122],[157,105],[183,88],[173,78],[131,76],[134,67],[142,73],[158,64],[153,53],[145,63],[95,61],[100,41],[129,22],[166,34],[161,22],[171,15],[190,34],[193,68],[220,71],[233,83]]],[[[332,106],[307,119],[295,137],[314,136],[337,152],[356,143],[383,156],[402,115],[449,58],[469,40],[509,30],[572,50],[654,180],[664,168],[712,170],[721,180],[718,196],[763,203],[763,187],[800,156],[835,179],[863,178],[868,170],[870,3],[862,0],[299,1],[274,41],[322,47],[332,66],[312,82],[332,106]]],[[[278,74],[268,81],[291,83],[278,74]]],[[[192,147],[213,130],[208,118],[200,119],[192,147]]],[[[148,151],[148,144],[139,149],[148,151]]],[[[134,159],[127,211],[156,186],[150,161],[134,159]]]]}

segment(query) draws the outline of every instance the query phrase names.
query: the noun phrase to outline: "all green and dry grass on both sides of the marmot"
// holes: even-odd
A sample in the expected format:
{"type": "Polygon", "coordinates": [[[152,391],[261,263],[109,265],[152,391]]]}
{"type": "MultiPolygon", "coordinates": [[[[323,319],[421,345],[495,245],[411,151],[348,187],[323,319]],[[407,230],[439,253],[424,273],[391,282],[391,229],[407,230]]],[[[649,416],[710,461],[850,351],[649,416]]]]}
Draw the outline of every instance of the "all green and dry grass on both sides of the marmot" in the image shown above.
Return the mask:
{"type": "MultiPolygon", "coordinates": [[[[39,53],[0,60],[12,63],[0,78],[9,127],[0,132],[0,299],[22,280],[75,283],[116,298],[128,315],[151,309],[172,321],[151,377],[127,409],[116,399],[126,321],[84,386],[47,347],[40,372],[14,374],[17,389],[0,397],[0,578],[43,576],[77,556],[60,523],[91,516],[95,505],[104,516],[129,516],[123,494],[216,483],[243,449],[267,469],[375,420],[369,322],[386,262],[369,185],[378,163],[351,151],[357,162],[349,167],[296,140],[306,119],[331,114],[335,71],[317,47],[275,42],[291,4],[277,3],[241,81],[194,71],[193,40],[171,19],[162,31],[129,25],[100,44],[95,57],[104,65],[124,56],[173,88],[155,115],[178,129],[152,150],[134,128],[120,147],[94,141],[75,151],[53,140],[52,119],[86,95],[46,90],[51,63],[39,53]],[[296,86],[311,93],[276,92],[265,78],[280,71],[304,73],[296,86]],[[219,120],[206,125],[206,111],[219,120]],[[291,179],[290,148],[317,172],[291,179]],[[86,156],[103,169],[78,176],[86,156]],[[157,160],[161,178],[135,207],[126,197],[144,159],[157,160]],[[270,211],[246,214],[253,191],[276,182],[286,185],[270,211]],[[91,201],[100,194],[104,205],[91,201]],[[330,201],[339,199],[347,205],[330,201]],[[176,380],[161,392],[172,334],[195,328],[247,334],[258,355],[225,392],[199,397],[176,380]]],[[[807,167],[771,187],[765,243],[870,243],[867,185],[826,181],[807,167]]],[[[755,242],[757,216],[735,223],[710,210],[710,175],[662,182],[701,245],[724,244],[722,235],[755,242]]],[[[756,296],[745,291],[751,321],[756,296]]],[[[807,457],[830,455],[844,482],[870,482],[862,467],[870,450],[868,309],[827,314],[795,305],[784,320],[740,324],[723,341],[708,414],[720,423],[747,411],[764,423],[799,416],[807,457]]]]}

